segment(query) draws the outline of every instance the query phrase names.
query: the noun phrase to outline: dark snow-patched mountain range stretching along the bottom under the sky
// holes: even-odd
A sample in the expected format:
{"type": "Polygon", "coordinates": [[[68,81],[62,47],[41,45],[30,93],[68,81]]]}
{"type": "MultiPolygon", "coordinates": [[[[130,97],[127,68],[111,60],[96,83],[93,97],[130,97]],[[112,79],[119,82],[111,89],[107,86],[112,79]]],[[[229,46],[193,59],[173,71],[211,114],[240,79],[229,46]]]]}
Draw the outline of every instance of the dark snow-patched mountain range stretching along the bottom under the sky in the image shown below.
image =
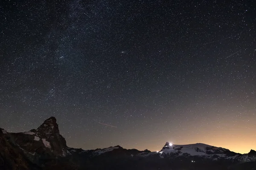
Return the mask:
{"type": "Polygon", "coordinates": [[[37,129],[8,133],[0,128],[0,170],[256,170],[256,151],[232,152],[207,144],[166,142],[159,152],[114,146],[67,147],[55,117],[37,129]]]}

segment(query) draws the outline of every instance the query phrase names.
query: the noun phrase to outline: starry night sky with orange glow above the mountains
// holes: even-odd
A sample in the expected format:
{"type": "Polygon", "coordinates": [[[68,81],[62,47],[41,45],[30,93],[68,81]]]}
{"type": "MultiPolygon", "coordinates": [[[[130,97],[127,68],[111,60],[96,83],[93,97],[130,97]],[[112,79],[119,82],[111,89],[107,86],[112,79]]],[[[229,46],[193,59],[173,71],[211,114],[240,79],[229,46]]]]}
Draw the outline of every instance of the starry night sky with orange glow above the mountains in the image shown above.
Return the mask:
{"type": "Polygon", "coordinates": [[[70,147],[256,149],[253,0],[3,0],[0,40],[9,132],[55,116],[70,147]]]}

